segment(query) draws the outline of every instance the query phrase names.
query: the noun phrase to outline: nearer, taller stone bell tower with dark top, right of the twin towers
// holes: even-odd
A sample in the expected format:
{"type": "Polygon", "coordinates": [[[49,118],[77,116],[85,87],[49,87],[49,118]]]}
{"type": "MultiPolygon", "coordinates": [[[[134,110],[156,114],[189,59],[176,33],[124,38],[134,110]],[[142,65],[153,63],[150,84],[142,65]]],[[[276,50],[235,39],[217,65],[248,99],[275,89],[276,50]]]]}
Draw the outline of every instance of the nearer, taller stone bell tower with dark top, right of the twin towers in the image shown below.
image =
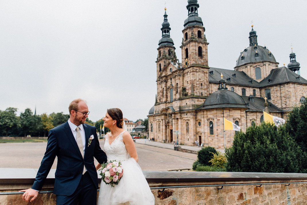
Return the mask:
{"type": "Polygon", "coordinates": [[[188,0],[186,7],[188,18],[185,19],[182,45],[180,46],[182,65],[185,67],[192,65],[208,67],[209,43],[204,34],[203,22],[198,16],[199,4],[197,0],[188,0]]]}

